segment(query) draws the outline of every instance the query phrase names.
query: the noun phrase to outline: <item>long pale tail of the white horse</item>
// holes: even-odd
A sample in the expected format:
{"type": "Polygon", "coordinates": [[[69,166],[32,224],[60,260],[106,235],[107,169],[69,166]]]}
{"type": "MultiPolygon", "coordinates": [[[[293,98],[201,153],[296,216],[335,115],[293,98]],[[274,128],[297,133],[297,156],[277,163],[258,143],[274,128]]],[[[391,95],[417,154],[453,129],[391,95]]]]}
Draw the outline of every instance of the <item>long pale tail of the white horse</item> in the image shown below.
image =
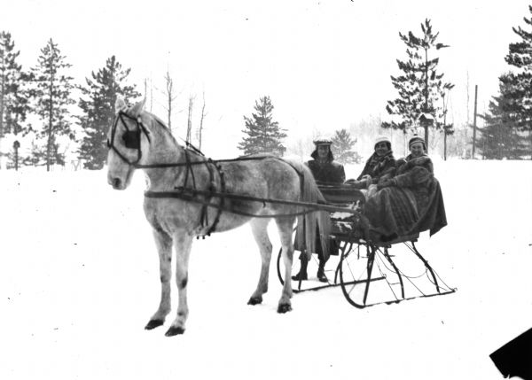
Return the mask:
{"type": "MultiPolygon", "coordinates": [[[[301,180],[301,201],[325,204],[325,198],[317,188],[316,181],[314,181],[314,176],[309,168],[301,165],[301,172],[303,174],[301,180]]],[[[309,259],[310,255],[316,252],[317,232],[324,257],[328,258],[329,234],[331,232],[331,218],[329,213],[326,211],[313,211],[298,216],[295,234],[297,237],[296,245],[306,248],[309,259]]]]}

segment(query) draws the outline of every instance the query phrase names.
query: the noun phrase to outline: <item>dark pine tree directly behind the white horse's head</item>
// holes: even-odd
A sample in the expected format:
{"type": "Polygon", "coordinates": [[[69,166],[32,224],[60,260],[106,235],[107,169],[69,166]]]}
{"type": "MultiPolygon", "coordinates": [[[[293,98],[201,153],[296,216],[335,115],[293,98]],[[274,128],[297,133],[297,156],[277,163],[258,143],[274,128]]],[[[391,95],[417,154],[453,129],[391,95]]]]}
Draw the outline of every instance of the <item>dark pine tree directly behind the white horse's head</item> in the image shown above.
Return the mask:
{"type": "Polygon", "coordinates": [[[85,136],[79,154],[85,168],[101,169],[106,163],[106,134],[113,123],[116,97],[120,95],[133,101],[140,96],[135,85],[126,83],[130,71],[130,68],[123,69],[112,56],[98,73],[92,72],[91,77],[85,79],[85,87],[80,87],[79,106],[83,114],[79,120],[85,136]]]}

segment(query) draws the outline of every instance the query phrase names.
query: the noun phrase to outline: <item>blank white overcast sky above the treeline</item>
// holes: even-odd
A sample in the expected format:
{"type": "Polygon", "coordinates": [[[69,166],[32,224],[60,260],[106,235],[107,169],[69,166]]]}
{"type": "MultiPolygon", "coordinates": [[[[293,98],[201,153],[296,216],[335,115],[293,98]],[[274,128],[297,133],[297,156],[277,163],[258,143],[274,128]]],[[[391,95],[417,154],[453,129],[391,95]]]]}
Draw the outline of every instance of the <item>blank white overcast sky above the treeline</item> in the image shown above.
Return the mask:
{"type": "MultiPolygon", "coordinates": [[[[190,93],[207,100],[206,151],[219,151],[227,137],[228,154],[244,128],[244,114],[269,95],[274,116],[290,139],[330,133],[374,116],[387,118],[386,101],[395,97],[389,76],[405,58],[398,32],[421,34],[432,19],[441,51],[441,71],[456,84],[450,121],[466,120],[469,75],[470,114],[474,84],[479,111],[496,94],[508,43],[518,41],[512,27],[529,17],[528,2],[512,0],[281,0],[162,1],[0,0],[0,30],[21,51],[20,63],[34,66],[48,39],[59,44],[73,65],[76,82],[115,55],[131,67],[131,79],[144,92],[145,77],[162,87],[167,70],[176,82],[178,110],[190,93]]],[[[161,95],[155,100],[162,102],[161,95]]],[[[153,112],[165,117],[160,105],[153,112]]],[[[186,111],[176,115],[184,136],[186,111]]],[[[197,114],[195,122],[198,122],[197,114]]],[[[219,155],[217,155],[219,156],[219,155]]],[[[220,158],[220,157],[218,157],[220,158]]]]}

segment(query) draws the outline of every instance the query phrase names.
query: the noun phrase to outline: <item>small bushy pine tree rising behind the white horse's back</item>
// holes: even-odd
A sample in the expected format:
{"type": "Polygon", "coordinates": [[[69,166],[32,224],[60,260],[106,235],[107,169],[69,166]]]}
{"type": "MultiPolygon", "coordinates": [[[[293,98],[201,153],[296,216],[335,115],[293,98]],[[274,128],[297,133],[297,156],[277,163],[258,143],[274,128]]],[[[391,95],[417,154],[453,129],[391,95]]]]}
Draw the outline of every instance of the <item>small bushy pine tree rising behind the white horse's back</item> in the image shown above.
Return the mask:
{"type": "Polygon", "coordinates": [[[255,101],[252,117],[244,116],[246,134],[239,143],[239,150],[244,154],[271,153],[283,156],[286,147],[283,139],[286,137],[285,129],[279,128],[278,122],[272,120],[273,105],[270,97],[261,97],[255,101]]]}

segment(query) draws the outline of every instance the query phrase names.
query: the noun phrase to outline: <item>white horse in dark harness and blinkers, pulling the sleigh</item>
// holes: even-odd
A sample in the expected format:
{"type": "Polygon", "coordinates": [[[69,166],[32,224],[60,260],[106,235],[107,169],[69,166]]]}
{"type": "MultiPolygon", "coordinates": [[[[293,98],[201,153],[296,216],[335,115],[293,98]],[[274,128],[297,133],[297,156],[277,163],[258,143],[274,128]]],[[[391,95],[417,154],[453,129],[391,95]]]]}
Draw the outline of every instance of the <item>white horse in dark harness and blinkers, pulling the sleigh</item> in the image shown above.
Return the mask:
{"type": "MultiPolygon", "coordinates": [[[[309,252],[314,251],[317,227],[322,237],[328,236],[328,213],[316,212],[316,209],[309,213],[309,209],[297,205],[298,202],[324,201],[307,167],[272,156],[213,162],[176,143],[160,119],[143,111],[144,102],[128,108],[119,98],[115,106],[116,117],[107,135],[107,182],[115,190],[124,190],[135,169],[145,171],[149,180],[145,216],[152,226],[159,251],[160,306],[145,326],[146,330],[162,325],[170,313],[172,246],[176,252],[179,305],[167,336],[182,334],[185,329],[189,313],[188,264],[194,237],[234,229],[246,222],[251,224],[262,256],[259,283],[248,301],[256,305],[268,291],[272,245],[267,226],[271,219],[278,226],[285,278],[290,278],[292,272],[296,218],[298,236],[304,239],[301,244],[309,247],[309,252]],[[172,197],[174,194],[181,196],[172,197]],[[257,201],[256,198],[286,202],[257,201]]],[[[292,284],[286,281],[278,313],[292,309],[291,297],[292,284]]]]}

